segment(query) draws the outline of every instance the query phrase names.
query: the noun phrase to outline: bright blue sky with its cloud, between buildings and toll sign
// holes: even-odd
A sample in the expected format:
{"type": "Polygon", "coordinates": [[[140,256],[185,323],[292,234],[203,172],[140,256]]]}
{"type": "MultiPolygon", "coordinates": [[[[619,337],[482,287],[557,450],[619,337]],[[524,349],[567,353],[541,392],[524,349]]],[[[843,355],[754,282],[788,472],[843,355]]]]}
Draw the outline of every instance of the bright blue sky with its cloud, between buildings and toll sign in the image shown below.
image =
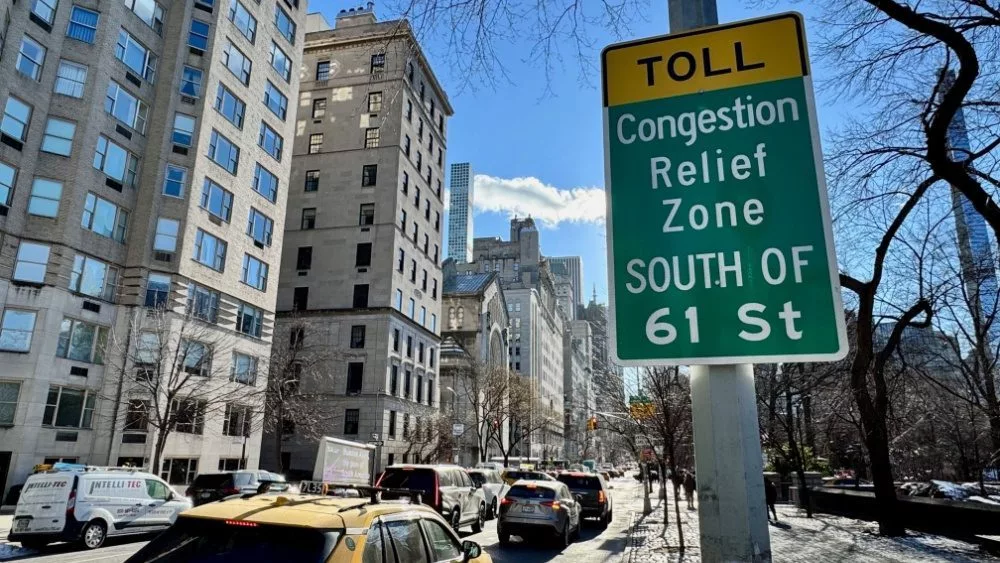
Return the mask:
{"type": "MultiPolygon", "coordinates": [[[[332,22],[337,10],[360,4],[337,0],[310,9],[320,9],[332,22]]],[[[789,10],[801,11],[807,18],[812,15],[810,6],[802,2],[773,2],[766,10],[748,9],[746,4],[720,0],[720,22],[789,10]]],[[[650,0],[649,5],[646,21],[634,22],[631,36],[624,39],[666,33],[667,1],[650,0]]],[[[394,17],[378,4],[376,13],[379,19],[394,17]]],[[[615,39],[600,29],[594,30],[593,38],[596,62],[600,48],[615,39]]],[[[598,299],[606,302],[599,70],[581,76],[579,63],[567,53],[564,66],[550,74],[551,92],[546,94],[541,65],[525,61],[528,48],[523,42],[506,44],[500,45],[499,57],[505,61],[510,83],[460,91],[462,77],[454,76],[442,64],[447,55],[444,41],[434,37],[421,37],[420,41],[455,109],[448,131],[448,164],[471,162],[475,174],[489,177],[477,181],[475,236],[506,239],[514,214],[530,212],[536,219],[546,219],[540,225],[543,254],[581,256],[584,301],[596,287],[598,299]]],[[[814,70],[822,78],[822,70],[814,70]]],[[[822,99],[818,106],[820,126],[826,129],[836,120],[837,112],[822,99]]],[[[448,240],[447,233],[444,240],[448,240]]]]}

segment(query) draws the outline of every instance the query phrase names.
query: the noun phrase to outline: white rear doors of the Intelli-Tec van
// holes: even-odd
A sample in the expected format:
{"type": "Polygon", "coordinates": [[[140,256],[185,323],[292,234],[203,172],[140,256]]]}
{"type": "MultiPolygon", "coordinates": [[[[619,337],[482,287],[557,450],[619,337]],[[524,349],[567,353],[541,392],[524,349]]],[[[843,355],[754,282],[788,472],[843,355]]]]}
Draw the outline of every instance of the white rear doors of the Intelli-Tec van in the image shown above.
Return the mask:
{"type": "Polygon", "coordinates": [[[11,532],[58,533],[66,527],[66,510],[76,475],[39,473],[28,477],[14,509],[11,532]]]}

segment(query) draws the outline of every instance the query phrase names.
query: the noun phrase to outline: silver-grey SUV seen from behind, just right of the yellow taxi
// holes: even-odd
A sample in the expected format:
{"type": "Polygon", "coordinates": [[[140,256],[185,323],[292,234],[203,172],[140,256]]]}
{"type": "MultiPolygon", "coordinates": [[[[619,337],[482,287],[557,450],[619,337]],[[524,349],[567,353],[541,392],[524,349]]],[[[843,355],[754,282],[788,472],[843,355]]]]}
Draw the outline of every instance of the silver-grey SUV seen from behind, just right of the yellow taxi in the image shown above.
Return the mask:
{"type": "Polygon", "coordinates": [[[558,481],[517,481],[500,500],[497,536],[554,538],[568,546],[580,535],[580,504],[558,481]]]}

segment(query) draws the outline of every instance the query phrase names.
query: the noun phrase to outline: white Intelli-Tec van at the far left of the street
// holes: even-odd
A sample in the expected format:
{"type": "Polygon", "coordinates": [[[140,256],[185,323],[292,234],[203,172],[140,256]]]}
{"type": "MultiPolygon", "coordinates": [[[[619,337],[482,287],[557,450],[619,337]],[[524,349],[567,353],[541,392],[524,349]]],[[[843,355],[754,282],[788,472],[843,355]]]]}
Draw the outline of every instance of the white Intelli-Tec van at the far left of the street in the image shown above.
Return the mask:
{"type": "Polygon", "coordinates": [[[36,473],[24,483],[7,541],[39,548],[80,542],[95,549],[108,536],[170,527],[191,500],[151,473],[75,466],[36,473]]]}

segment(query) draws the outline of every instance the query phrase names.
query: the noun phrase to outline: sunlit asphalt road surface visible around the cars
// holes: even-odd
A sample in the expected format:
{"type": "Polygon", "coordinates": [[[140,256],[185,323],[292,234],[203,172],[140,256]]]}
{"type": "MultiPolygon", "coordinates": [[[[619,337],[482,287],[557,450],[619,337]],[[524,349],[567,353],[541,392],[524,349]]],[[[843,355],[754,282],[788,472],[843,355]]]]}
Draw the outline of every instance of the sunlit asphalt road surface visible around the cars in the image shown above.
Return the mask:
{"type": "MultiPolygon", "coordinates": [[[[584,521],[580,539],[562,549],[552,544],[537,544],[511,540],[511,545],[501,548],[497,538],[496,521],[486,523],[478,534],[463,532],[463,539],[473,540],[483,546],[493,557],[494,563],[611,563],[617,562],[625,549],[629,513],[638,507],[636,489],[632,479],[617,479],[612,499],[615,519],[608,529],[601,530],[595,522],[584,521]]],[[[58,544],[46,548],[38,555],[19,558],[31,563],[121,563],[146,545],[143,539],[109,539],[104,547],[94,551],[80,551],[75,546],[58,544]]]]}

